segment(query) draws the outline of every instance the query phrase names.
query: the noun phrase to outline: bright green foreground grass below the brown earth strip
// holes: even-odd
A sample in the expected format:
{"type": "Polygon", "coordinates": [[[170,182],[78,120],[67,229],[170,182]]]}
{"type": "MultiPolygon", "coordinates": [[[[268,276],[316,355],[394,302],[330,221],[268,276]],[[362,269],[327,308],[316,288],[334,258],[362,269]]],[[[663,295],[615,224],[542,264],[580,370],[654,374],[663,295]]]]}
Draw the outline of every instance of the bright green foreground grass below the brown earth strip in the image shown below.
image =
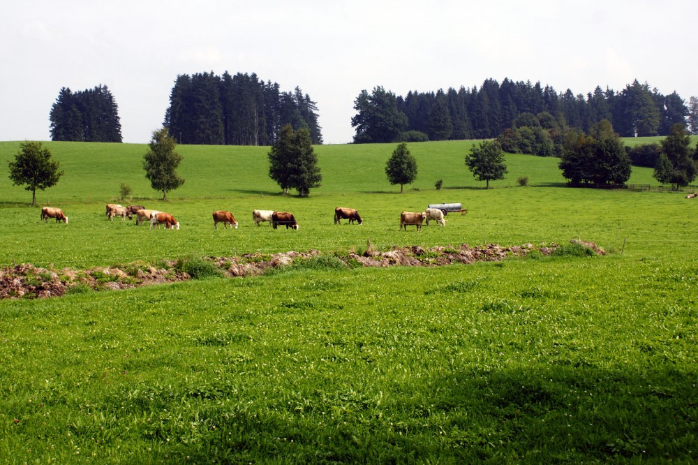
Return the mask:
{"type": "Polygon", "coordinates": [[[0,302],[0,456],[692,462],[698,267],[655,265],[295,270],[0,302]]]}

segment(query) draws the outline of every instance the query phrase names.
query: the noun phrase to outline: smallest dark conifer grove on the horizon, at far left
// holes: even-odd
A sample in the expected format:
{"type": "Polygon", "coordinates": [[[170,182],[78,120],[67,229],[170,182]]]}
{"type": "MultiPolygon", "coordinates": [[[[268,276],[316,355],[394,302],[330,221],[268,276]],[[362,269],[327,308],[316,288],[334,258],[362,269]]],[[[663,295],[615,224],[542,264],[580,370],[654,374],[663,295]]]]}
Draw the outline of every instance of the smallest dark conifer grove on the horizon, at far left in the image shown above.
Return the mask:
{"type": "Polygon", "coordinates": [[[106,85],[77,92],[63,87],[49,119],[51,140],[121,142],[119,108],[106,85]]]}

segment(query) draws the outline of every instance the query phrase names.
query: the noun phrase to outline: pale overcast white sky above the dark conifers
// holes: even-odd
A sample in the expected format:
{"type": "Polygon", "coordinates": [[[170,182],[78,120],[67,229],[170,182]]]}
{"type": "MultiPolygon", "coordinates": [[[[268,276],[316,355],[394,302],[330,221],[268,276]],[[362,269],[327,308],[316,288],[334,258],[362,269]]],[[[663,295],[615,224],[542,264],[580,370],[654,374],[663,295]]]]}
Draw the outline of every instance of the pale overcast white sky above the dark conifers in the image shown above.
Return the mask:
{"type": "Polygon", "coordinates": [[[350,142],[362,89],[540,81],[616,91],[637,79],[698,96],[695,0],[6,2],[0,140],[50,140],[61,87],[106,84],[124,142],[149,142],[178,74],[257,73],[318,104],[325,143],[350,142]]]}

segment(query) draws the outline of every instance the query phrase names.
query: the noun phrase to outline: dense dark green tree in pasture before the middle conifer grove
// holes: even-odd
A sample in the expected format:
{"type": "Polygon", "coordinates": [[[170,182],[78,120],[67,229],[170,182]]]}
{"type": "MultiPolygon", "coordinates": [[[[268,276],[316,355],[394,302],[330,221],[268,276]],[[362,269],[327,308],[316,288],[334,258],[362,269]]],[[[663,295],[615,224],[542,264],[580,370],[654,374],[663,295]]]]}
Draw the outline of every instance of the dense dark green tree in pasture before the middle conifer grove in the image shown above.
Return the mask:
{"type": "Polygon", "coordinates": [[[308,128],[294,131],[290,124],[285,124],[268,156],[269,177],[284,193],[296,189],[299,196],[307,197],[310,189],[320,187],[322,175],[308,128]]]}

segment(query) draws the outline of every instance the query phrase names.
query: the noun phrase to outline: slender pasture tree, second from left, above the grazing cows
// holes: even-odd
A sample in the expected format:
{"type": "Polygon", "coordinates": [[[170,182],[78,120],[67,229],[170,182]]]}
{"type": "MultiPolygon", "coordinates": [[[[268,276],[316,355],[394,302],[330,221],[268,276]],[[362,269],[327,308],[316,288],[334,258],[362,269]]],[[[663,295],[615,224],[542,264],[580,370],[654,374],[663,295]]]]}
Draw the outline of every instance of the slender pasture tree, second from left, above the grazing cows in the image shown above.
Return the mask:
{"type": "Polygon", "coordinates": [[[177,174],[182,157],[174,151],[177,144],[167,128],[154,131],[149,145],[150,150],[143,157],[145,177],[153,189],[163,193],[163,200],[168,200],[168,191],[174,191],[184,184],[184,179],[177,174]]]}

